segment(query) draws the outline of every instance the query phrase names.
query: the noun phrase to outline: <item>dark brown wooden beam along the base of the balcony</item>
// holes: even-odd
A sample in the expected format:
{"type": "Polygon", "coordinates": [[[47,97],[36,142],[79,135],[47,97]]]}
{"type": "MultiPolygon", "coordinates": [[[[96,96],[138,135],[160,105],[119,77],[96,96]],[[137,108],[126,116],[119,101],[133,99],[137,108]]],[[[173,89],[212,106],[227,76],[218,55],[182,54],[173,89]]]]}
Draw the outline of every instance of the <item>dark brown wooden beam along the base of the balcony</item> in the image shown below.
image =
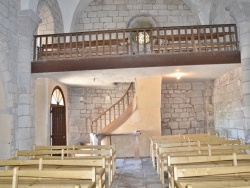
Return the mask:
{"type": "Polygon", "coordinates": [[[86,57],[31,62],[31,73],[240,63],[240,51],[86,57]]]}

